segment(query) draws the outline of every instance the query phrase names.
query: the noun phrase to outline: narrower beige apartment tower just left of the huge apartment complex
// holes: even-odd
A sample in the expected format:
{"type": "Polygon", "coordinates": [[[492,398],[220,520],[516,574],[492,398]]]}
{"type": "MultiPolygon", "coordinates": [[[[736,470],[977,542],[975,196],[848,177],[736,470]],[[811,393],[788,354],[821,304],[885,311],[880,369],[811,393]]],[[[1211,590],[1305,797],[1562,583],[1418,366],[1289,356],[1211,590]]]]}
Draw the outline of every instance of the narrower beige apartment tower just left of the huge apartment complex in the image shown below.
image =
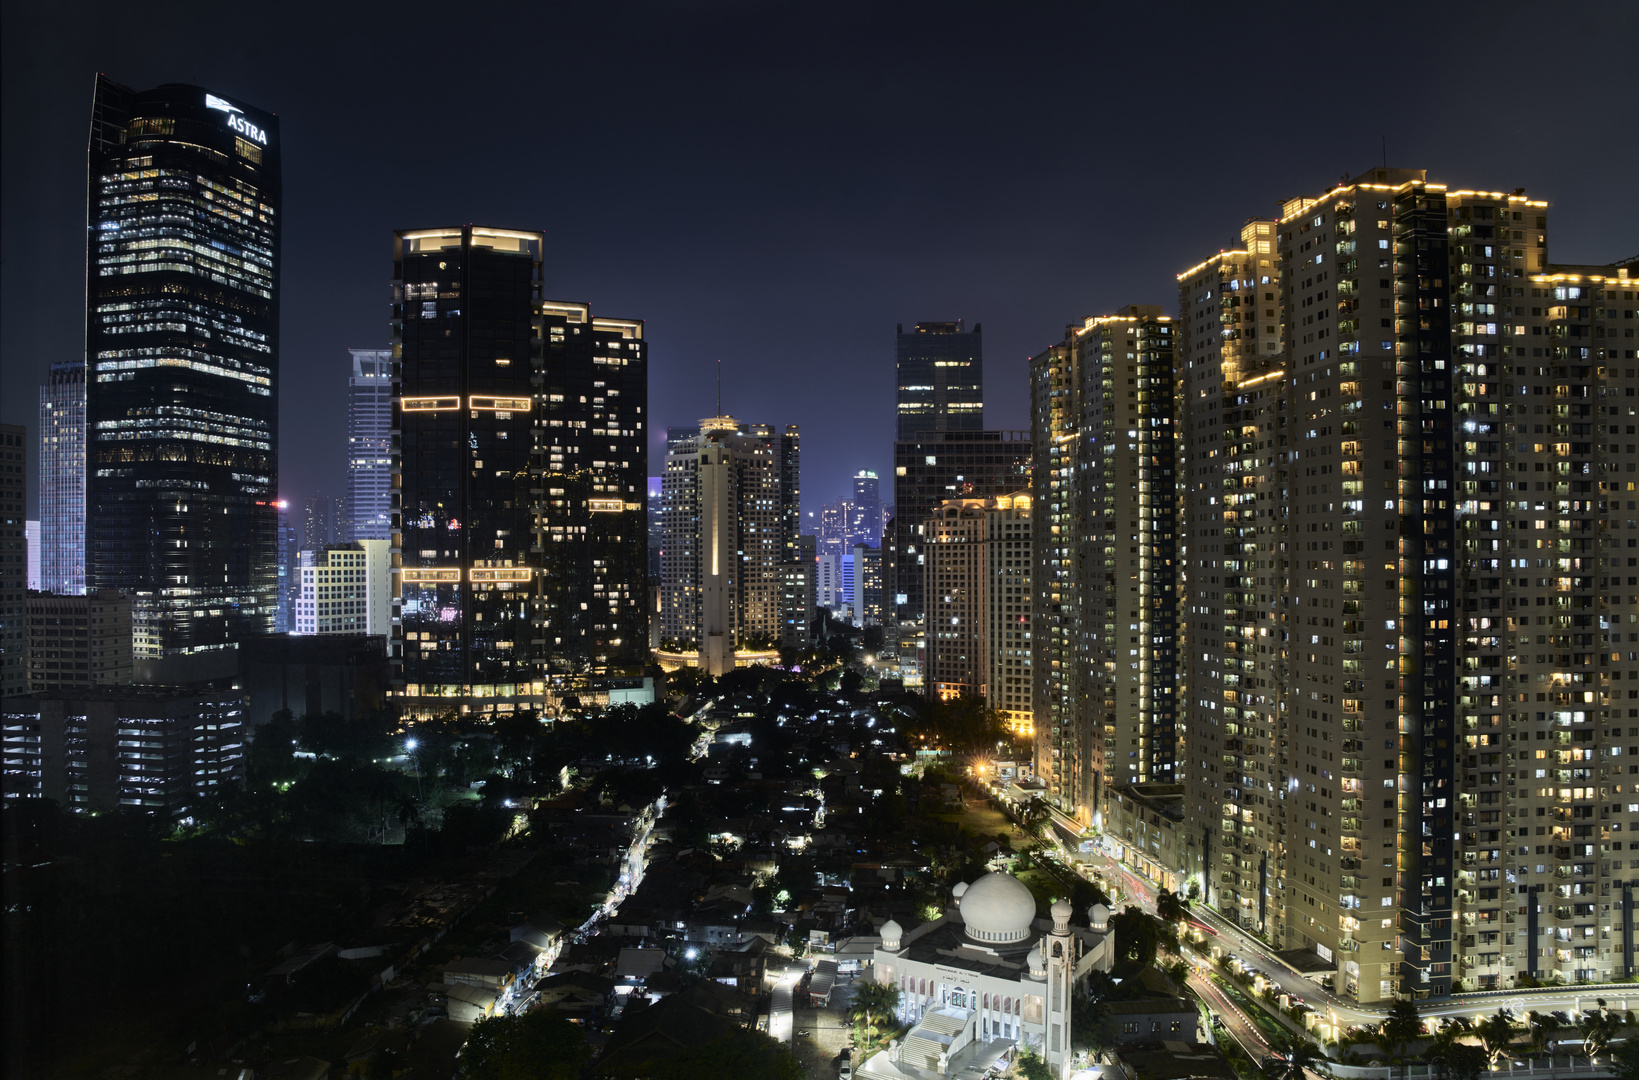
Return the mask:
{"type": "Polygon", "coordinates": [[[1177,775],[1172,329],[1133,305],[1033,361],[1036,772],[1083,821],[1108,783],[1177,775]]]}

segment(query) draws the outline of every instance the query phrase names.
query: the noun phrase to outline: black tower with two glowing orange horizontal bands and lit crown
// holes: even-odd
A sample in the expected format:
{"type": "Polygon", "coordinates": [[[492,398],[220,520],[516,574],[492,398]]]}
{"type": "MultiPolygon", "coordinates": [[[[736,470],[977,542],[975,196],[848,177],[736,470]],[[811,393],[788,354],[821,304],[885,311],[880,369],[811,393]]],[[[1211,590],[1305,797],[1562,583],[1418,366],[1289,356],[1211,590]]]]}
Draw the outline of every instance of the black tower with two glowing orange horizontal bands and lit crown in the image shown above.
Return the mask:
{"type": "Polygon", "coordinates": [[[393,531],[411,710],[488,711],[538,682],[541,244],[474,226],[393,238],[393,531]]]}

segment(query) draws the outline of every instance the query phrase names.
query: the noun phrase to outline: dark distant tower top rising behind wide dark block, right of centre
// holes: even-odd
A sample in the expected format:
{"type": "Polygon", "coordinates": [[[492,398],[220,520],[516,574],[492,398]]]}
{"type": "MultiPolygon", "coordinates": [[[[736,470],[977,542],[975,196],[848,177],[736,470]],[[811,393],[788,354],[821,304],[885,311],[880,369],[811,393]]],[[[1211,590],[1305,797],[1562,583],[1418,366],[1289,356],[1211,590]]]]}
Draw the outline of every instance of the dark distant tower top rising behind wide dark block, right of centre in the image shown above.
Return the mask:
{"type": "Polygon", "coordinates": [[[898,441],[926,431],[982,431],[985,426],[985,351],[978,323],[962,333],[954,323],[898,328],[898,441]]]}

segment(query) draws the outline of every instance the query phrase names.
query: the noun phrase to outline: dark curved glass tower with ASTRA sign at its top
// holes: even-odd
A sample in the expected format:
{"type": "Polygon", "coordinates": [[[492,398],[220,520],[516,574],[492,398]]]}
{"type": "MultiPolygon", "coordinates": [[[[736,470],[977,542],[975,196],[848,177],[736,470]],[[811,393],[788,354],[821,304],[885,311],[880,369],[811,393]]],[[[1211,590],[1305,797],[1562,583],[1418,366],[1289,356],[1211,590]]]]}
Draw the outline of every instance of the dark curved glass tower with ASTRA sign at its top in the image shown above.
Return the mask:
{"type": "Polygon", "coordinates": [[[98,75],[87,190],[87,587],[138,656],[274,628],[279,120],[98,75]]]}

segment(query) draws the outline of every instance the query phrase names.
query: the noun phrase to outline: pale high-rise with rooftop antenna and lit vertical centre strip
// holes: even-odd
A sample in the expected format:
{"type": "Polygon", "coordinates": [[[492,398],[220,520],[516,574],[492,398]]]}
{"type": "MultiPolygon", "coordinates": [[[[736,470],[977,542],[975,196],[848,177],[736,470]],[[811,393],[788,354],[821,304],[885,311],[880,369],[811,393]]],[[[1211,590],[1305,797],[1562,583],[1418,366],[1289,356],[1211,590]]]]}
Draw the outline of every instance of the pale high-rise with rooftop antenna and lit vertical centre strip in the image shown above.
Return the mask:
{"type": "Polygon", "coordinates": [[[782,490],[797,477],[795,447],[795,428],[775,441],[713,416],[667,456],[662,652],[716,675],[780,641],[782,567],[800,551],[797,493],[782,490]]]}

